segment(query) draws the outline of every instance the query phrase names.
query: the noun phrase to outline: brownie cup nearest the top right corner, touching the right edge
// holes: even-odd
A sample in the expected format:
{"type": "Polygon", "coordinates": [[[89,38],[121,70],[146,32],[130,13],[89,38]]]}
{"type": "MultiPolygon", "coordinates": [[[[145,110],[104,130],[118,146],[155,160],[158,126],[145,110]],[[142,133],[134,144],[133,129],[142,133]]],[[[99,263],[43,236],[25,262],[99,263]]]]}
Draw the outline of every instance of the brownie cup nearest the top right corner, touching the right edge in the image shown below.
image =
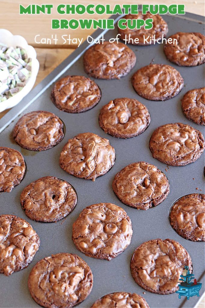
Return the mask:
{"type": "Polygon", "coordinates": [[[177,44],[164,45],[167,59],[181,66],[196,66],[205,62],[204,35],[198,32],[177,32],[170,36],[177,44]]]}

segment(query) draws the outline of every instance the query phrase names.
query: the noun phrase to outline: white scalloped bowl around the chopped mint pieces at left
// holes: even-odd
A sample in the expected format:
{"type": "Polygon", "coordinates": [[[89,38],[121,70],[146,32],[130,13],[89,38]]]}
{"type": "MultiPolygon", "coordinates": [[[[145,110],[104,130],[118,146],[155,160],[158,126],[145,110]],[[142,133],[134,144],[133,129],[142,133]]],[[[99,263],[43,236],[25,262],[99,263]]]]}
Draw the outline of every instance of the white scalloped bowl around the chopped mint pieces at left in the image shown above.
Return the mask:
{"type": "Polygon", "coordinates": [[[28,45],[26,40],[21,35],[13,35],[6,29],[0,29],[0,43],[13,47],[20,46],[26,49],[28,57],[32,59],[31,76],[26,81],[26,86],[23,87],[23,89],[16,95],[10,97],[4,102],[0,102],[1,112],[20,103],[24,96],[26,96],[31,91],[36,81],[36,76],[39,70],[39,62],[36,59],[36,51],[34,47],[28,45]]]}

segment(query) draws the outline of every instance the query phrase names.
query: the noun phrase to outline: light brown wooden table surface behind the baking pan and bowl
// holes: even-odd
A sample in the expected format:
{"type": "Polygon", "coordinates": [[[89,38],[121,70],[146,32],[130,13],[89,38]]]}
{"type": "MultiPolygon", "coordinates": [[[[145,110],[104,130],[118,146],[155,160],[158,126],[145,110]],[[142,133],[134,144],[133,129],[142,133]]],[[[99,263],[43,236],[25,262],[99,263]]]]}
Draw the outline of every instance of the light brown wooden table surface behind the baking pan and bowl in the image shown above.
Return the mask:
{"type": "MultiPolygon", "coordinates": [[[[126,3],[126,1],[115,1],[115,0],[109,0],[109,1],[101,1],[93,0],[91,1],[93,4],[103,3],[103,4],[111,4],[111,7],[113,7],[114,4],[119,3],[123,4],[126,3]]],[[[18,9],[19,9],[19,3],[24,5],[25,7],[28,6],[30,3],[35,4],[50,4],[53,3],[54,7],[56,7],[57,4],[60,3],[66,3],[62,1],[57,0],[36,0],[34,2],[30,2],[28,0],[22,0],[20,2],[12,1],[12,0],[0,0],[1,4],[1,11],[0,11],[0,28],[6,28],[10,30],[13,34],[20,34],[24,36],[30,45],[35,47],[35,50],[37,52],[37,59],[40,63],[39,72],[37,75],[36,83],[34,87],[41,82],[51,71],[54,70],[55,67],[57,67],[65,58],[67,58],[75,49],[76,46],[74,45],[56,45],[56,46],[45,46],[41,44],[35,44],[34,37],[36,34],[41,34],[41,37],[49,37],[51,34],[58,33],[58,35],[65,34],[65,30],[55,30],[51,29],[51,17],[50,15],[19,15],[18,9]],[[10,21],[8,22],[8,15],[10,16],[10,21]],[[26,29],[26,30],[25,30],[26,29]],[[38,47],[38,48],[36,48],[38,47]],[[39,48],[40,47],[40,48],[39,48]],[[63,48],[62,48],[63,47],[63,48]],[[66,48],[65,48],[66,47],[66,48]]],[[[73,1],[72,3],[75,3],[73,1]]],[[[89,1],[87,0],[81,0],[79,1],[81,4],[89,4],[89,1]]],[[[129,0],[129,4],[136,4],[135,0],[129,0]]],[[[138,4],[147,4],[148,1],[139,1],[138,4]]],[[[152,4],[172,4],[174,3],[172,0],[162,0],[162,1],[152,1],[152,4]]],[[[185,4],[185,10],[187,12],[191,12],[194,14],[199,14],[204,16],[204,0],[183,0],[183,1],[175,1],[177,4],[185,4]]],[[[66,15],[59,15],[54,14],[52,15],[52,18],[67,18],[69,17],[66,15]],[[62,17],[64,16],[64,17],[62,17]]],[[[108,15],[101,15],[102,17],[98,18],[107,18],[108,15]]],[[[77,18],[77,16],[74,16],[73,18],[77,18]]],[[[86,15],[83,15],[83,18],[89,18],[86,15]]],[[[92,15],[90,18],[97,18],[96,15],[92,15]]],[[[73,37],[79,37],[85,38],[87,35],[92,34],[93,30],[81,30],[77,29],[75,31],[69,30],[69,34],[71,34],[73,37]]],[[[8,110],[5,110],[3,112],[0,112],[0,118],[7,112],[8,110]]],[[[205,300],[204,296],[200,299],[200,302],[197,306],[197,308],[204,308],[205,307],[205,300]]]]}

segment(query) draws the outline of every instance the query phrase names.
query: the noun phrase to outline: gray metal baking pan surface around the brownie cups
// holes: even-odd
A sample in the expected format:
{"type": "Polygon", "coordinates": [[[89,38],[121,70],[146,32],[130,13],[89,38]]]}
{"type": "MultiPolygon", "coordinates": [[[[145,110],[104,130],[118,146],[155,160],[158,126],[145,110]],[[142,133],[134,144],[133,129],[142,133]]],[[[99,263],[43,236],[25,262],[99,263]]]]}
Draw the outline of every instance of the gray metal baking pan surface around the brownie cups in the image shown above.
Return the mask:
{"type": "MultiPolygon", "coordinates": [[[[121,16],[112,16],[117,21],[121,16]]],[[[168,35],[178,31],[204,33],[203,17],[187,13],[185,16],[165,15],[168,22],[168,35]]],[[[93,38],[105,39],[115,37],[117,29],[102,31],[97,30],[93,38]]],[[[197,125],[183,115],[181,102],[183,95],[190,89],[203,87],[203,65],[197,67],[179,67],[170,63],[164,53],[163,45],[129,47],[136,54],[136,65],[132,71],[120,80],[95,80],[102,91],[100,102],[93,109],[79,114],[71,114],[57,109],[50,100],[52,84],[65,75],[85,75],[82,64],[82,54],[90,45],[85,42],[76,51],[63,61],[48,77],[46,77],[21,103],[12,108],[0,120],[0,145],[14,148],[22,153],[25,158],[27,171],[22,182],[10,193],[0,193],[0,214],[14,214],[26,219],[37,231],[41,245],[30,265],[10,277],[0,275],[0,307],[38,307],[31,298],[27,281],[32,267],[46,256],[60,252],[77,253],[91,267],[94,282],[93,290],[88,298],[78,307],[90,307],[95,300],[103,295],[116,291],[136,292],[143,296],[150,307],[194,307],[200,297],[178,298],[177,294],[158,295],[144,291],[138,286],[130,273],[130,259],[137,246],[144,241],[155,238],[171,238],[179,241],[190,253],[193,262],[193,273],[199,282],[203,282],[200,296],[204,291],[204,243],[191,242],[180,237],[171,227],[168,219],[169,209],[179,197],[189,193],[200,193],[204,188],[204,154],[194,163],[183,167],[167,167],[154,159],[148,147],[152,132],[160,125],[182,122],[204,133],[204,128],[197,125]],[[175,67],[184,78],[184,88],[176,97],[164,102],[153,102],[141,98],[132,88],[130,79],[132,74],[149,63],[164,63],[175,67]],[[136,98],[145,104],[151,114],[151,123],[144,133],[131,139],[117,139],[107,135],[98,124],[98,115],[101,107],[111,99],[118,97],[136,98]],[[52,149],[42,152],[32,152],[21,148],[12,138],[14,124],[24,113],[33,110],[47,110],[58,115],[65,124],[64,139],[52,149]],[[116,150],[116,162],[113,168],[104,176],[91,180],[83,180],[67,174],[58,163],[59,154],[69,138],[81,132],[94,132],[108,138],[116,150]],[[146,161],[156,165],[168,177],[170,193],[166,200],[155,208],[147,211],[133,209],[121,203],[112,190],[112,180],[117,172],[126,165],[136,161],[146,161]],[[168,170],[166,171],[165,168],[168,170]],[[57,223],[39,223],[30,220],[22,211],[20,194],[22,189],[30,182],[42,176],[57,176],[68,181],[77,191],[78,201],[73,212],[57,223]],[[193,180],[195,178],[195,180],[193,180]],[[128,248],[112,261],[97,260],[86,257],[79,252],[72,241],[72,224],[86,206],[111,202],[126,210],[132,221],[133,236],[128,248]],[[145,294],[143,293],[145,292],[145,294]]]]}

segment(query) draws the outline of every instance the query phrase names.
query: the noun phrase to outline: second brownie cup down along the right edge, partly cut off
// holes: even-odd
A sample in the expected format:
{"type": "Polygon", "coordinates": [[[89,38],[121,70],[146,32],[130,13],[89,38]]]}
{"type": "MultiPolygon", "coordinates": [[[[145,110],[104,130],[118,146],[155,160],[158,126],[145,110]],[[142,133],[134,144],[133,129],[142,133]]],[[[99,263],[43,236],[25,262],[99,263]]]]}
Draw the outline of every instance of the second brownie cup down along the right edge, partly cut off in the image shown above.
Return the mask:
{"type": "Polygon", "coordinates": [[[188,120],[205,125],[205,87],[188,91],[182,99],[182,110],[188,120]]]}

